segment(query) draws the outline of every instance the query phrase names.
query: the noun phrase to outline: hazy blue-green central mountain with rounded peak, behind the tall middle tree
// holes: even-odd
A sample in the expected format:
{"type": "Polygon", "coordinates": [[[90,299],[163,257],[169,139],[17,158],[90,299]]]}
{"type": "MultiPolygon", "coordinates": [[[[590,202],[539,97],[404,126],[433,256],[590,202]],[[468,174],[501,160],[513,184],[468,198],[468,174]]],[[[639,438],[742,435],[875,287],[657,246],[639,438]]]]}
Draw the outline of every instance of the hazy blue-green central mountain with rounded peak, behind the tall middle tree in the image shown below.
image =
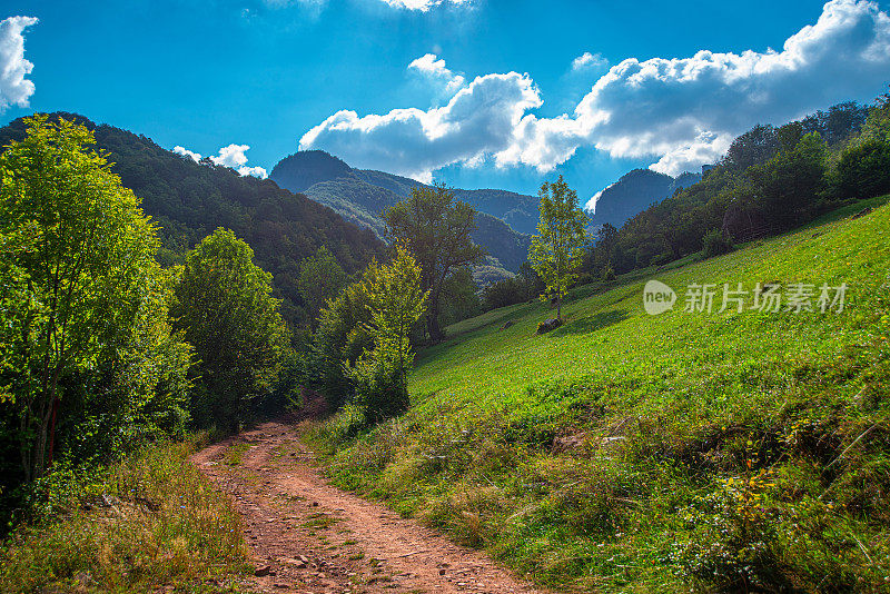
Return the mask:
{"type": "MultiPolygon", "coordinates": [[[[374,230],[378,237],[384,232],[380,214],[409,196],[412,189],[427,187],[383,171],[353,169],[322,150],[299,151],[286,157],[273,168],[269,179],[329,206],[346,220],[374,230]]],[[[478,211],[473,240],[497,260],[490,264],[516,271],[527,259],[531,238],[517,232],[516,227],[508,222],[534,231],[537,198],[504,190],[455,189],[454,195],[478,211]]]]}

